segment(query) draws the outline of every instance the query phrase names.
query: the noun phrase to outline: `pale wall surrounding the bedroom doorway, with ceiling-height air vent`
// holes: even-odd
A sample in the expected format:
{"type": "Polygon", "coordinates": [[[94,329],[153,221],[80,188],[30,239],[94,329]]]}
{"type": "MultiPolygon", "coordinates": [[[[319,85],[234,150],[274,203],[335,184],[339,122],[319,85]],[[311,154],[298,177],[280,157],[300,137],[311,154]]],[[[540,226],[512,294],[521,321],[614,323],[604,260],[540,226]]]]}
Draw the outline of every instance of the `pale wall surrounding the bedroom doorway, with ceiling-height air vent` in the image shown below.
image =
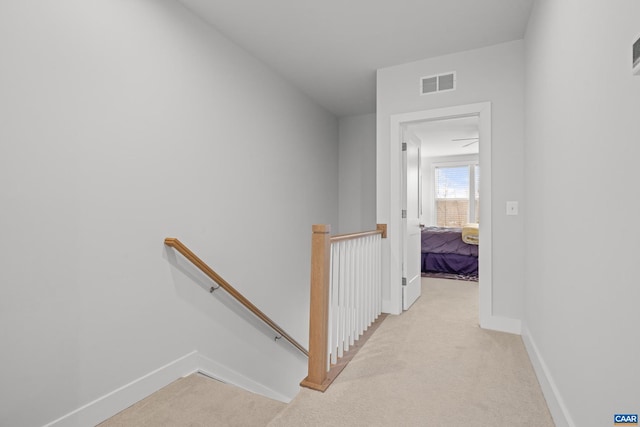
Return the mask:
{"type": "MultiPolygon", "coordinates": [[[[505,215],[507,200],[523,201],[524,49],[522,41],[425,59],[378,70],[377,220],[389,222],[390,116],[400,113],[491,102],[493,314],[521,319],[523,219],[505,215]],[[420,96],[423,76],[457,72],[457,89],[420,96]]],[[[400,230],[389,230],[388,245],[400,230]]],[[[383,274],[385,270],[383,270],[383,274]]],[[[389,271],[386,270],[388,274],[389,271]]],[[[481,273],[482,274],[482,273],[481,273]]],[[[385,277],[388,292],[390,277],[385,277]]],[[[385,294],[387,296],[387,294],[385,294]]]]}

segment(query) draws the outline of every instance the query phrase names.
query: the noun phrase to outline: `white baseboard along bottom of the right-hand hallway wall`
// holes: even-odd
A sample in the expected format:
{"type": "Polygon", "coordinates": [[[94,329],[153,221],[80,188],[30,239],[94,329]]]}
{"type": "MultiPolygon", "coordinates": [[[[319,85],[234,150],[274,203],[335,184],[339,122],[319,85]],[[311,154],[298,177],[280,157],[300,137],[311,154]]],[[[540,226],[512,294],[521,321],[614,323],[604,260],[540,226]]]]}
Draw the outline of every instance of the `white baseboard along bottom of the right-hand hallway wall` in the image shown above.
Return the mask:
{"type": "Polygon", "coordinates": [[[538,347],[526,326],[523,327],[522,330],[522,341],[524,342],[524,346],[529,354],[533,370],[538,377],[540,388],[542,389],[544,398],[547,401],[549,412],[551,412],[551,417],[553,418],[553,422],[556,424],[556,427],[575,427],[575,423],[571,418],[569,409],[564,404],[564,400],[560,395],[558,387],[556,387],[556,383],[549,372],[549,368],[540,355],[538,347]]]}

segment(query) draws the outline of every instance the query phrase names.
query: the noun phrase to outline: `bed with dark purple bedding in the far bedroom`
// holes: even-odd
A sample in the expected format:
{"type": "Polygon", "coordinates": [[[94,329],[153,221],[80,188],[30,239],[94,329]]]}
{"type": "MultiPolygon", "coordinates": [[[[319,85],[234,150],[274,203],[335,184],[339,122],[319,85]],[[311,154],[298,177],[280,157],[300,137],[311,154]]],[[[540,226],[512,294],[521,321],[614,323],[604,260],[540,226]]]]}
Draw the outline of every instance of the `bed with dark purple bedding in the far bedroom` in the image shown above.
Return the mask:
{"type": "MultiPolygon", "coordinates": [[[[476,226],[477,229],[477,226],[476,226]]],[[[464,228],[465,240],[469,229],[464,228]]],[[[474,234],[473,232],[471,233],[474,234]]],[[[423,273],[446,273],[464,276],[478,275],[478,245],[462,240],[462,228],[425,227],[422,229],[423,273]]]]}

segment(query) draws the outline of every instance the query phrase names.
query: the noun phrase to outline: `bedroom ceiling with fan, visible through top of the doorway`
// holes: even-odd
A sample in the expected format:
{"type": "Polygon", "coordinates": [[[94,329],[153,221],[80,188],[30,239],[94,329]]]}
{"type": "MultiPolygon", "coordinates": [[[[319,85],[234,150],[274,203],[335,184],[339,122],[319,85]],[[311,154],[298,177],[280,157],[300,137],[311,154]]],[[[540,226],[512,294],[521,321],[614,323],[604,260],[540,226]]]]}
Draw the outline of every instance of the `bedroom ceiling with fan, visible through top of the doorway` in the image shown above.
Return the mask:
{"type": "Polygon", "coordinates": [[[472,116],[411,123],[406,132],[421,141],[423,157],[457,156],[479,153],[478,126],[472,116]]]}

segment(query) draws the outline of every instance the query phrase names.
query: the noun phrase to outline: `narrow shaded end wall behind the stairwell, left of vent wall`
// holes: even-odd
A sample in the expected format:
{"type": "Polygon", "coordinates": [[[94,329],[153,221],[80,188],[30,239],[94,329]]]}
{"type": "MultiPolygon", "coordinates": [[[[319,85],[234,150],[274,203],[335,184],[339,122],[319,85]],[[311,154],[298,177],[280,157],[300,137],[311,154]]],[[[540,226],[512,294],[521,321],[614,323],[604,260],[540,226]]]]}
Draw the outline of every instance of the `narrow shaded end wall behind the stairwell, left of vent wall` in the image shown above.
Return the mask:
{"type": "Polygon", "coordinates": [[[376,115],[340,118],[340,228],[352,233],[376,228],[376,115]]]}

